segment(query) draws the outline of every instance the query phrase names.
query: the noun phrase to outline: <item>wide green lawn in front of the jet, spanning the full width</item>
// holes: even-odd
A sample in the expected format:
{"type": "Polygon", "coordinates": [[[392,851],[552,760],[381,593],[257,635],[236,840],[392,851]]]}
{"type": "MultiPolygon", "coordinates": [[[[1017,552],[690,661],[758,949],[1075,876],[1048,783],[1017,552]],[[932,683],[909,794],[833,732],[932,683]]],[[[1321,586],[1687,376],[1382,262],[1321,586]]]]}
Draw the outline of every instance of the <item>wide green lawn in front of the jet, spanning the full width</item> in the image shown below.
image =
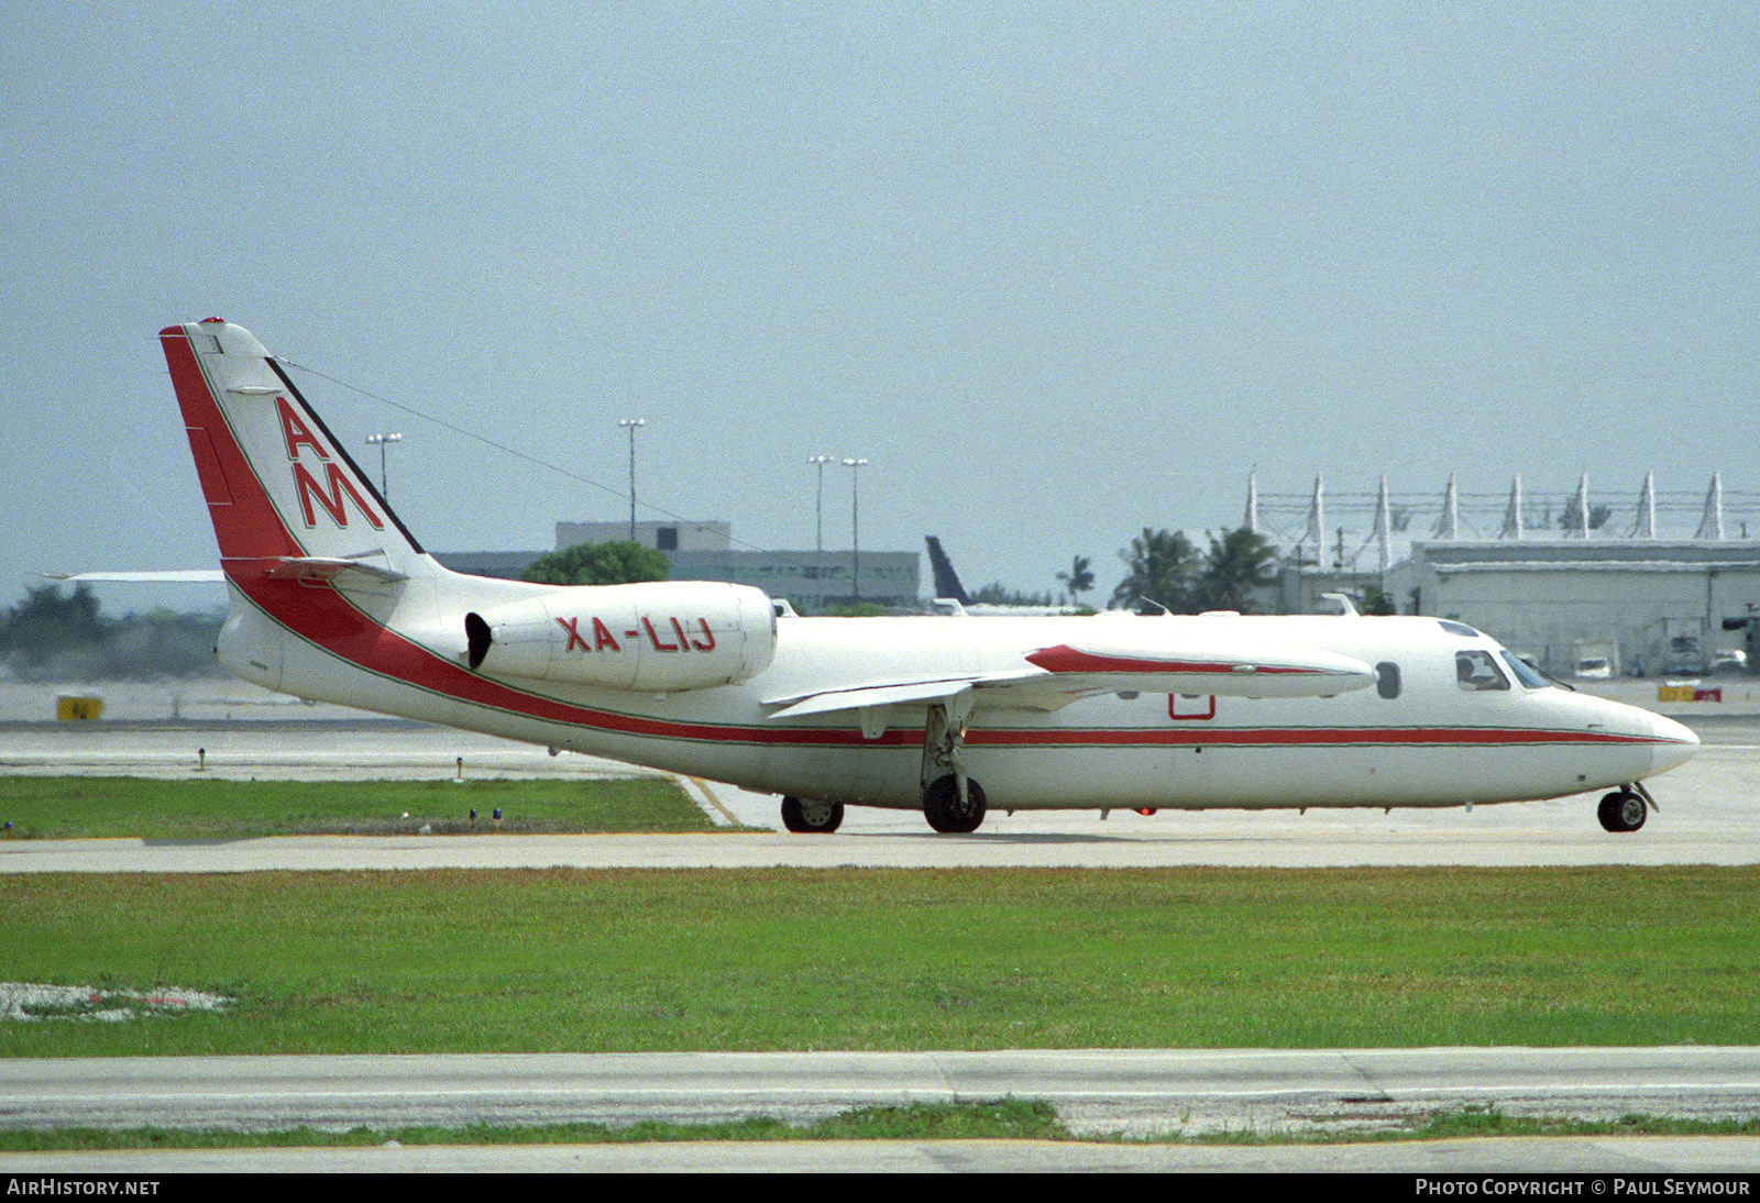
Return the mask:
{"type": "Polygon", "coordinates": [[[1760,1043],[1760,869],[40,874],[0,1055],[1760,1043]]]}

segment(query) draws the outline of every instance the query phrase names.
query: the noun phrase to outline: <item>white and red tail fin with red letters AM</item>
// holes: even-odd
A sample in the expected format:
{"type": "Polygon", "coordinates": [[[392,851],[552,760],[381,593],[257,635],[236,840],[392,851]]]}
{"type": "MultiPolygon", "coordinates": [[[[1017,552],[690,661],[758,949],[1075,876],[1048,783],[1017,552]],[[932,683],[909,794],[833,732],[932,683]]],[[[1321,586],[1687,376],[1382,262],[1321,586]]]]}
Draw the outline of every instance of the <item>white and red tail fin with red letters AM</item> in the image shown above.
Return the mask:
{"type": "Polygon", "coordinates": [[[158,332],[229,577],[438,570],[250,331],[158,332]]]}

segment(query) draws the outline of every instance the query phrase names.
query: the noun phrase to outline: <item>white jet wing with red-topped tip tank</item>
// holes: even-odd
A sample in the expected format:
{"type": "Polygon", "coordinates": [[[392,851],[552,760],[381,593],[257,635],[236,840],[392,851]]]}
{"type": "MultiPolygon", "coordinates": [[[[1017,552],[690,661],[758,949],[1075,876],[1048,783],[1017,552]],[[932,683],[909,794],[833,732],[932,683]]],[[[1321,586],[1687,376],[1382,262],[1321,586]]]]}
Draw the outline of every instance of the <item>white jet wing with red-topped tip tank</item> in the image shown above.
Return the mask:
{"type": "Polygon", "coordinates": [[[961,677],[875,681],[766,698],[769,718],[804,718],[898,704],[949,702],[970,691],[973,707],[1056,711],[1096,693],[1214,693],[1234,698],[1311,698],[1362,689],[1375,670],[1318,649],[1230,649],[1206,642],[1174,651],[1123,640],[1056,644],[1023,656],[1019,670],[961,677]]]}

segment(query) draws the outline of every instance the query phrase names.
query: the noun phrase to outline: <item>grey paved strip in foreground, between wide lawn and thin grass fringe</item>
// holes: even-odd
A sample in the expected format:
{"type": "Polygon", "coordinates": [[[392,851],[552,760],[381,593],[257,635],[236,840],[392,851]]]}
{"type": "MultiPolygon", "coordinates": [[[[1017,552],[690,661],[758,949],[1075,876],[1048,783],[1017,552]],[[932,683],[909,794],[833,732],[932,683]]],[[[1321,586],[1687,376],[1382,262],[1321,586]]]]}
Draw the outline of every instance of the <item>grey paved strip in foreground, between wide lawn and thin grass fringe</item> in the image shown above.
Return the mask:
{"type": "Polygon", "coordinates": [[[1755,1112],[1760,1048],[1084,1048],[0,1061],[7,1127],[811,1122],[852,1106],[1045,1099],[1081,1136],[1399,1131],[1433,1108],[1755,1112]]]}

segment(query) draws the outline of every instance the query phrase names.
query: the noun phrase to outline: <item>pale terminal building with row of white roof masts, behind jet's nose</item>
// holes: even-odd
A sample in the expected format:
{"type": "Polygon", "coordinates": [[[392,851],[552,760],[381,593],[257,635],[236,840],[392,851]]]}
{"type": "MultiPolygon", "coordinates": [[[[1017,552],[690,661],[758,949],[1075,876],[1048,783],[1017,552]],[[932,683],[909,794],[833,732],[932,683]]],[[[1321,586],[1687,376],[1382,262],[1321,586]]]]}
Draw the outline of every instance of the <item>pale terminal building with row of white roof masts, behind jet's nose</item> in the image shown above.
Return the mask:
{"type": "MultiPolygon", "coordinates": [[[[1306,514],[1292,512],[1301,524],[1280,540],[1278,603],[1299,614],[1331,609],[1325,593],[1380,593],[1399,614],[1477,626],[1559,677],[1698,674],[1720,653],[1734,667],[1727,653],[1748,651],[1760,626],[1760,540],[1746,521],[1727,521],[1720,477],[1702,498],[1658,494],[1646,477],[1635,507],[1596,505],[1588,478],[1554,496],[1524,494],[1517,478],[1492,499],[1457,492],[1450,477],[1426,512],[1426,499],[1389,492],[1385,477],[1376,492],[1343,498],[1315,480],[1306,514]],[[1369,529],[1346,535],[1327,522],[1329,505],[1334,517],[1352,505],[1373,515],[1369,529]],[[1693,536],[1663,533],[1670,517],[1693,536]]],[[[1730,508],[1749,514],[1756,501],[1734,494],[1730,508]]],[[[1248,522],[1260,522],[1255,482],[1248,522]]],[[[1272,535],[1269,526],[1255,529],[1272,535]]]]}

